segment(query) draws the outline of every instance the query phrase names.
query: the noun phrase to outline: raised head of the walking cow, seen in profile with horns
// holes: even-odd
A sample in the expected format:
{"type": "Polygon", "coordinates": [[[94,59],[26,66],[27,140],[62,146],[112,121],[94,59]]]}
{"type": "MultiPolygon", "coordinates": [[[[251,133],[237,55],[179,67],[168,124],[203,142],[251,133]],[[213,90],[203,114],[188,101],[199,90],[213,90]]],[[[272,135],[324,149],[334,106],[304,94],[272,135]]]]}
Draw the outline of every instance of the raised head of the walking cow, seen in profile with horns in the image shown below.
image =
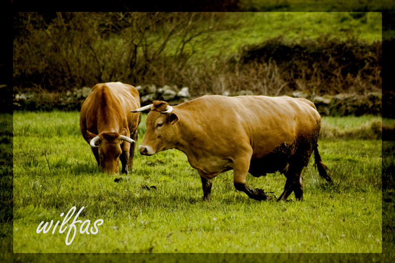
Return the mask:
{"type": "Polygon", "coordinates": [[[157,152],[174,148],[176,143],[177,128],[174,126],[178,121],[178,116],[165,101],[153,101],[153,104],[132,110],[139,112],[151,109],[147,116],[147,130],[144,139],[139,146],[142,155],[153,155],[157,152]]]}

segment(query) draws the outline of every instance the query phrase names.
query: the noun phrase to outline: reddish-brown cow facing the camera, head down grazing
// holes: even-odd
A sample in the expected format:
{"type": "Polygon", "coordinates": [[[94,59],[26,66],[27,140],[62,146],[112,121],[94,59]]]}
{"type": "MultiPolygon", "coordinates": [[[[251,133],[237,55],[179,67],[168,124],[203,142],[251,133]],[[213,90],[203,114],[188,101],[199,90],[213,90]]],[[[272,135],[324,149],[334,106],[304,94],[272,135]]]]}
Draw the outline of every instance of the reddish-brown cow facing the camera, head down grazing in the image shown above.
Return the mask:
{"type": "Polygon", "coordinates": [[[118,174],[119,160],[122,173],[133,168],[141,113],[130,110],[136,107],[138,91],[120,82],[97,84],[82,104],[79,127],[103,172],[118,174]]]}

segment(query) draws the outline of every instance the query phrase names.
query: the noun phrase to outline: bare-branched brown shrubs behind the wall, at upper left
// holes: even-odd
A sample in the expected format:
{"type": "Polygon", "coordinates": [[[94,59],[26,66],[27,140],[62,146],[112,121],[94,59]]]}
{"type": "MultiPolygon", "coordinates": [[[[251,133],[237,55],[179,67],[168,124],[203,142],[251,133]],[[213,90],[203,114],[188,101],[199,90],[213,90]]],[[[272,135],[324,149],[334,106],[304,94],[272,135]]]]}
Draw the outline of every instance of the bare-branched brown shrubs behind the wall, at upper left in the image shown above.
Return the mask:
{"type": "Polygon", "coordinates": [[[216,32],[229,28],[223,17],[78,12],[56,13],[48,19],[18,13],[14,86],[62,91],[111,81],[177,83],[191,57],[208,48],[216,32]]]}

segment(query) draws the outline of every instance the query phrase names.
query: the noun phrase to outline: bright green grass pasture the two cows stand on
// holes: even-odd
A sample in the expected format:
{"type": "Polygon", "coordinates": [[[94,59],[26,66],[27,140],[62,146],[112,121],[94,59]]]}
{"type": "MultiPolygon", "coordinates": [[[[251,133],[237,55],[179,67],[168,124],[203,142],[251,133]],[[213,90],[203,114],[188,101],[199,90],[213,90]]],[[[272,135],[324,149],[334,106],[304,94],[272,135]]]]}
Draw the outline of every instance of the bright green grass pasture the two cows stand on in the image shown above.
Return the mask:
{"type": "MultiPolygon", "coordinates": [[[[207,203],[197,172],[180,151],[137,153],[133,174],[116,183],[119,176],[96,167],[79,133],[79,112],[15,112],[13,118],[14,253],[382,252],[381,140],[319,140],[335,183],[319,178],[312,159],[303,172],[303,202],[251,200],[235,190],[229,171],[213,180],[207,203]],[[104,222],[89,235],[80,234],[77,223],[67,246],[68,229],[59,233],[66,216],[60,215],[73,206],[76,213],[84,207],[78,219],[90,220],[90,226],[104,222]],[[41,221],[51,220],[60,221],[54,234],[53,226],[36,233],[41,221]]],[[[348,122],[358,127],[375,118],[348,122]]],[[[328,126],[341,122],[323,118],[328,126]]],[[[279,196],[285,177],[248,175],[247,183],[279,196]]]]}

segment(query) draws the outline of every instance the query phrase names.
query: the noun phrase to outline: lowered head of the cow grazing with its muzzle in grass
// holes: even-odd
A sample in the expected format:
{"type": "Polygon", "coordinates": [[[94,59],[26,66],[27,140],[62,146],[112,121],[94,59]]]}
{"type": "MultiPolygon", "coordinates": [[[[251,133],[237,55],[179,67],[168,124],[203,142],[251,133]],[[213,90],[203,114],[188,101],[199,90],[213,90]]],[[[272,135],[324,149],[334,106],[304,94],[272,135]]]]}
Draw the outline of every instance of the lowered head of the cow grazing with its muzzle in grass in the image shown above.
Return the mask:
{"type": "Polygon", "coordinates": [[[102,171],[108,174],[118,174],[119,156],[122,154],[121,144],[124,142],[135,142],[126,136],[126,129],[123,129],[120,134],[118,132],[102,132],[95,135],[89,131],[86,132],[92,138],[89,143],[90,147],[98,149],[98,158],[102,171]]]}

